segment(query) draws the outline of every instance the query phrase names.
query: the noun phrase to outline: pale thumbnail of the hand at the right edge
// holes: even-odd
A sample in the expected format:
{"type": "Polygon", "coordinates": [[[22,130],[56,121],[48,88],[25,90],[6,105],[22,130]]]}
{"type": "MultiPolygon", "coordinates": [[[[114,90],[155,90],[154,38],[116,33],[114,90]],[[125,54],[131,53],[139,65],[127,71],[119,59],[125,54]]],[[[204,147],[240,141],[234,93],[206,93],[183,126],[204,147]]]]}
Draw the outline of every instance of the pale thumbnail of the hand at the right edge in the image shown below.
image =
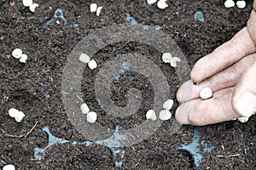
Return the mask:
{"type": "Polygon", "coordinates": [[[241,116],[252,116],[256,111],[256,96],[249,92],[241,94],[235,107],[241,116]]]}

